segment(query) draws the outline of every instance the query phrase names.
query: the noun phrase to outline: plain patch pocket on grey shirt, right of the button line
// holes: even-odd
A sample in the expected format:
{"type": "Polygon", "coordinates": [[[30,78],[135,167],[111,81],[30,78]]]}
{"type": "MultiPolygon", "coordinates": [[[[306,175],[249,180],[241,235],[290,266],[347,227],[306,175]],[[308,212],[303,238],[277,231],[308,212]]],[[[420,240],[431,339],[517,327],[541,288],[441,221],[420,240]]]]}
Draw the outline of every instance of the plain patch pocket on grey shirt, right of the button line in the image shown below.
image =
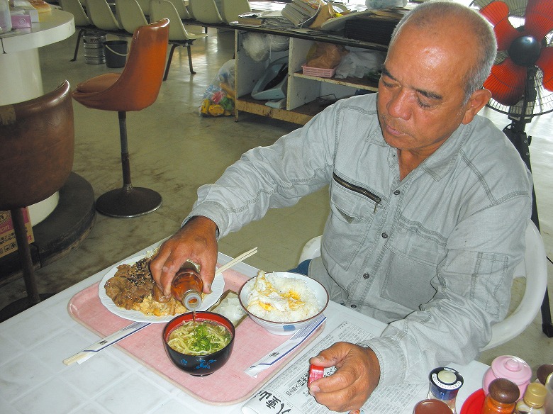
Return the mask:
{"type": "Polygon", "coordinates": [[[437,276],[438,264],[445,259],[445,243],[437,233],[400,223],[386,243],[389,264],[382,297],[411,311],[428,303],[437,293],[431,281],[437,276]]]}

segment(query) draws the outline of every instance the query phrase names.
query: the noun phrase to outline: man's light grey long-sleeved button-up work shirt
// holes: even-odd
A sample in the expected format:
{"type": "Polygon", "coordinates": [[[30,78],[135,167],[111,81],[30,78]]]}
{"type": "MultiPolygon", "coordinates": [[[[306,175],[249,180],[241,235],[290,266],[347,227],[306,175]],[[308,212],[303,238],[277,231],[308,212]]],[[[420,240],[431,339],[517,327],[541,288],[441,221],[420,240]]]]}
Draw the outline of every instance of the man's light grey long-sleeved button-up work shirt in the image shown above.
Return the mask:
{"type": "Polygon", "coordinates": [[[376,94],[342,99],[201,186],[189,217],[211,218],[223,237],[326,184],[330,215],[309,274],[334,301],[389,324],[364,344],[380,384],[474,359],[508,310],[531,212],[530,172],[505,135],[476,116],[400,181],[376,94]]]}

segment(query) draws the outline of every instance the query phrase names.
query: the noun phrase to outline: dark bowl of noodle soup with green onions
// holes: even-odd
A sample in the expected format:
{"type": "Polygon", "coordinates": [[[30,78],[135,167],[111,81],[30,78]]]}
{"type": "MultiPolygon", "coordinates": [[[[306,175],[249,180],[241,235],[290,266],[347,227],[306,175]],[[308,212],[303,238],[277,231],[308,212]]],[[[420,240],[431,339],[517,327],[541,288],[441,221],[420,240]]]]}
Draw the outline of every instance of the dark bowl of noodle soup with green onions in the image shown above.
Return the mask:
{"type": "Polygon", "coordinates": [[[223,367],[233,350],[233,323],[213,312],[184,313],[163,330],[167,356],[175,366],[194,376],[205,376],[223,367]]]}

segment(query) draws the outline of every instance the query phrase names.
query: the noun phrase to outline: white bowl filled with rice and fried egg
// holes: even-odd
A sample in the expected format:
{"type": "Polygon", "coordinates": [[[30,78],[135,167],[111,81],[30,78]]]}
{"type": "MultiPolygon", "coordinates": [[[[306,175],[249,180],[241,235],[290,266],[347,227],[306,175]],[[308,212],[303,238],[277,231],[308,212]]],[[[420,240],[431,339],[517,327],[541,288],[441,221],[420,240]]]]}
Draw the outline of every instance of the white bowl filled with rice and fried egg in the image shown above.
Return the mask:
{"type": "Polygon", "coordinates": [[[238,298],[255,323],[276,335],[293,334],[328,305],[328,292],[323,285],[290,272],[259,272],[242,286],[238,298]]]}

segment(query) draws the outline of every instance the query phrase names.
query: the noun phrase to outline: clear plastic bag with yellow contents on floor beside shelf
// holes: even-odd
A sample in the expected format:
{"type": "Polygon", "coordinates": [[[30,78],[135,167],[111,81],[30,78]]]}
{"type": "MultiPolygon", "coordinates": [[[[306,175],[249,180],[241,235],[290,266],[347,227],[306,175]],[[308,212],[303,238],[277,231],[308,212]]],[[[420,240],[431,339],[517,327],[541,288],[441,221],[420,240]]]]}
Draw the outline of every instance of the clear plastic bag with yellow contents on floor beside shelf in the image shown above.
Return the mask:
{"type": "Polygon", "coordinates": [[[234,60],[229,60],[220,67],[217,76],[203,94],[199,108],[201,116],[229,116],[234,113],[234,68],[234,60]]]}

